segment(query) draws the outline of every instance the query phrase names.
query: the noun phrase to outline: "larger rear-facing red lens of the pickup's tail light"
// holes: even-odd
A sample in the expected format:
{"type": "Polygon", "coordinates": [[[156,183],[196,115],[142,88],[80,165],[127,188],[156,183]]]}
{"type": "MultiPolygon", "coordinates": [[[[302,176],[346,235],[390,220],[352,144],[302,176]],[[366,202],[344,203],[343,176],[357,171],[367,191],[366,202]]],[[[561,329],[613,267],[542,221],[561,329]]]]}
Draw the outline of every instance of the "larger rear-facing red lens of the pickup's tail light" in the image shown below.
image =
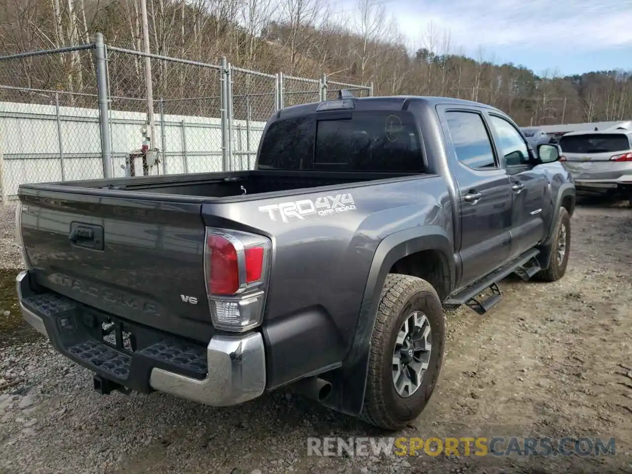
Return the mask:
{"type": "Polygon", "coordinates": [[[209,246],[209,293],[212,295],[234,295],[239,289],[239,265],[237,249],[228,239],[211,234],[209,246]]]}

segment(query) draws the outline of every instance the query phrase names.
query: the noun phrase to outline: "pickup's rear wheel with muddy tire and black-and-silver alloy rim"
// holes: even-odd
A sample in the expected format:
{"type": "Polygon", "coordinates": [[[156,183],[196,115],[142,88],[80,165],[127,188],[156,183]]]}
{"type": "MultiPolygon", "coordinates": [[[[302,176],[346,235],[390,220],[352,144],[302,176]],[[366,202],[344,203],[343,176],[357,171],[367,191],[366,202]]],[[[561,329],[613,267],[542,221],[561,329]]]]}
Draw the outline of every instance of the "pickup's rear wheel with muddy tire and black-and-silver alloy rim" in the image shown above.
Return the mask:
{"type": "Polygon", "coordinates": [[[371,336],[360,419],[398,430],[420,415],[439,378],[445,339],[443,308],[432,285],[413,276],[389,274],[371,336]],[[408,339],[404,327],[410,330],[408,339]]]}

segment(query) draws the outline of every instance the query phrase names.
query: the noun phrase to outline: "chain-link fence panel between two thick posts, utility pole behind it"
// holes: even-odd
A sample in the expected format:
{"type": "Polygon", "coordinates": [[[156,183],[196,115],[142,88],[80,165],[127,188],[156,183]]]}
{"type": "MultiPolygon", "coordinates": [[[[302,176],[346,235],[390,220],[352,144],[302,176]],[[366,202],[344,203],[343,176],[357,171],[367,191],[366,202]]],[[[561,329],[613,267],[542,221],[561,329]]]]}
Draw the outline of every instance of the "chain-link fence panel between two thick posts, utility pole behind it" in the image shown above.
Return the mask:
{"type": "Polygon", "coordinates": [[[222,67],[118,47],[107,52],[114,175],[222,171],[222,67]]]}

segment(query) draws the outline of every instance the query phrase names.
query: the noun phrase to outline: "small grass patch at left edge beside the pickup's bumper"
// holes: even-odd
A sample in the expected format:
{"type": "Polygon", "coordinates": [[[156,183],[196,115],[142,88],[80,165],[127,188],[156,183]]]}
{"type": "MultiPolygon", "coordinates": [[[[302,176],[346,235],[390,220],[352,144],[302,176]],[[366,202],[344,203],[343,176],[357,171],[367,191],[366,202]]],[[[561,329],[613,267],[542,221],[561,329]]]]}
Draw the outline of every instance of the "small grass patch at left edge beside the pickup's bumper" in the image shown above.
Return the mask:
{"type": "Polygon", "coordinates": [[[37,341],[42,337],[22,319],[15,289],[18,273],[20,269],[0,269],[0,347],[37,341]]]}

